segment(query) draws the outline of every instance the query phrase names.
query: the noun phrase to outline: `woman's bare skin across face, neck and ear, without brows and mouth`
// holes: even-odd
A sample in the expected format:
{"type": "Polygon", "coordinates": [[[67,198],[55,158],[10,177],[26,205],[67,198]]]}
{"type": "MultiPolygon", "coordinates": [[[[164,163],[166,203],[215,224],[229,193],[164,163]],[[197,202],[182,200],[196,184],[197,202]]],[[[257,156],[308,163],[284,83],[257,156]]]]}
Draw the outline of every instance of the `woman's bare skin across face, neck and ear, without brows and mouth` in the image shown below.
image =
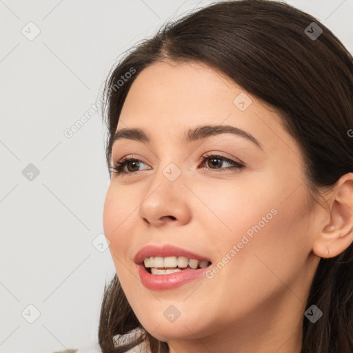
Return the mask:
{"type": "Polygon", "coordinates": [[[130,174],[112,174],[105,236],[132,310],[171,353],[301,352],[303,312],[320,257],[327,248],[336,256],[353,241],[353,174],[323,195],[324,205],[312,203],[296,141],[279,115],[248,92],[252,103],[239,110],[233,100],[241,92],[201,63],[166,61],[139,74],[121,111],[117,130],[141,128],[151,143],[123,139],[112,147],[112,161],[133,155],[143,163],[125,166],[130,174]],[[241,128],[263,149],[233,134],[181,143],[186,130],[206,124],[241,128]],[[245,168],[201,163],[206,152],[241,160],[245,168]],[[181,170],[175,181],[163,174],[170,163],[181,170]],[[272,209],[272,219],[212,279],[162,291],[142,285],[134,256],[143,246],[170,243],[214,265],[272,209]],[[163,316],[170,305],[181,313],[172,323],[163,316]]]}

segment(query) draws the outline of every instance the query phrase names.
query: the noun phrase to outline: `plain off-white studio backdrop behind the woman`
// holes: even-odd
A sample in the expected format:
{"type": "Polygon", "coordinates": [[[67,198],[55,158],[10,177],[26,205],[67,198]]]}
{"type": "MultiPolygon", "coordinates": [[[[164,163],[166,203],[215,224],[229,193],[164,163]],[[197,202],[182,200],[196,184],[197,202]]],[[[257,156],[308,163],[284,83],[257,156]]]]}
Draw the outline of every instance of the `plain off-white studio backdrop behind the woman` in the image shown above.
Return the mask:
{"type": "MultiPolygon", "coordinates": [[[[287,2],[353,52],[353,0],[287,2]]],[[[0,1],[0,352],[97,342],[114,265],[103,236],[106,131],[92,105],[124,50],[209,3],[0,1]]]]}

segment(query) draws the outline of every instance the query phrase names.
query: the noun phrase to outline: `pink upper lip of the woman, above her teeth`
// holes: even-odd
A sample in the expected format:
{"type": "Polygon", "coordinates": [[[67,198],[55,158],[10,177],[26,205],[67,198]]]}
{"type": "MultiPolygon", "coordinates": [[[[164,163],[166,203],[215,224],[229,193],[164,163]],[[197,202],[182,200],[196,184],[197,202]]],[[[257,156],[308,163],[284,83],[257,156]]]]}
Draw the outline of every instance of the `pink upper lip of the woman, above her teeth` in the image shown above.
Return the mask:
{"type": "Polygon", "coordinates": [[[185,256],[188,259],[195,259],[199,261],[209,261],[207,256],[199,255],[186,249],[178,248],[170,244],[163,245],[146,245],[141,248],[134,257],[134,263],[142,265],[146,257],[168,257],[168,256],[185,256]]]}

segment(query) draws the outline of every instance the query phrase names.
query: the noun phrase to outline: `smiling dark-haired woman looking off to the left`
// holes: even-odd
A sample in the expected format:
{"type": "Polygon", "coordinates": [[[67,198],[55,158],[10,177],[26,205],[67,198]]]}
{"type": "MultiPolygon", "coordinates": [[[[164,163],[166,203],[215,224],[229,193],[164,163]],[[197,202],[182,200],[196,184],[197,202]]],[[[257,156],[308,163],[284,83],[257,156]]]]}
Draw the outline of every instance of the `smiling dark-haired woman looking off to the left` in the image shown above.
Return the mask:
{"type": "Polygon", "coordinates": [[[352,55],[285,3],[214,3],[125,55],[104,353],[353,352],[352,92],[352,55]]]}

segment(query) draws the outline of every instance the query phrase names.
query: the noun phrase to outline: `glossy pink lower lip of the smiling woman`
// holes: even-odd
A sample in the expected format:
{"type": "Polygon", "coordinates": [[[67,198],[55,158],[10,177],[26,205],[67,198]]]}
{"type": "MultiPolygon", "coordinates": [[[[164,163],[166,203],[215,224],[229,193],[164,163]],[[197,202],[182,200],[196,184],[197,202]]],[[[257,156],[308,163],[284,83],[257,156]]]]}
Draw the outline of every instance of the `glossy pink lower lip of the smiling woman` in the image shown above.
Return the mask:
{"type": "Polygon", "coordinates": [[[197,270],[181,270],[170,274],[152,274],[145,270],[144,265],[137,265],[137,270],[142,284],[145,288],[150,290],[169,290],[179,287],[185,283],[193,281],[201,274],[208,270],[206,268],[199,268],[197,270]]]}

